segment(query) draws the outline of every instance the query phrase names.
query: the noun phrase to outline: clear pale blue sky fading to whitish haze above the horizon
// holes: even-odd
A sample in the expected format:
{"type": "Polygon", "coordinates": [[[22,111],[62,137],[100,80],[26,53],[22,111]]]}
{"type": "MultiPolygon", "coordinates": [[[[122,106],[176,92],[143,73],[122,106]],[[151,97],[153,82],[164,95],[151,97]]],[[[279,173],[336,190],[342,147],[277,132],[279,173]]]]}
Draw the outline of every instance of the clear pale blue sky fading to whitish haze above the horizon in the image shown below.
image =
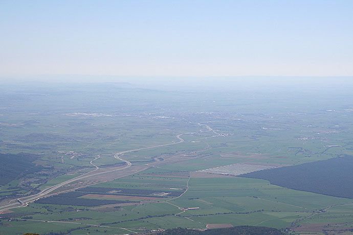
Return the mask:
{"type": "Polygon", "coordinates": [[[353,1],[0,1],[0,76],[351,76],[353,1]]]}

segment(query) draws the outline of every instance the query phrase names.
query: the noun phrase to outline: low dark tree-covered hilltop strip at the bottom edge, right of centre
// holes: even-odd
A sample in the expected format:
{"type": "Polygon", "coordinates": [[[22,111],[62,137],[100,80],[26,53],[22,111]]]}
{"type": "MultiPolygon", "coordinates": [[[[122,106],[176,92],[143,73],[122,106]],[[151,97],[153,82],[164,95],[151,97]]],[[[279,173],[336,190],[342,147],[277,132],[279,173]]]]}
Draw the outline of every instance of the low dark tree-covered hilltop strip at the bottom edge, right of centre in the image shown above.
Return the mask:
{"type": "Polygon", "coordinates": [[[213,228],[205,231],[173,228],[163,232],[150,233],[153,235],[283,235],[280,230],[268,227],[236,226],[231,228],[213,228]]]}

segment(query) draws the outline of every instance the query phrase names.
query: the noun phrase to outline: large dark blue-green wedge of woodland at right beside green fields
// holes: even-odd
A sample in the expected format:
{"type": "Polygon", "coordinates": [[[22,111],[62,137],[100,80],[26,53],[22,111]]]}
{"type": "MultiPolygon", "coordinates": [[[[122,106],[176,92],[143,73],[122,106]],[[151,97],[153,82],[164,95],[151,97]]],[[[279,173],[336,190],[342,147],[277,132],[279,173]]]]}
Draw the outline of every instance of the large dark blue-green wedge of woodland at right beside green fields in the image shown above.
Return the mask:
{"type": "Polygon", "coordinates": [[[239,177],[269,180],[294,190],[353,199],[353,157],[344,156],[252,172],[239,177]]]}

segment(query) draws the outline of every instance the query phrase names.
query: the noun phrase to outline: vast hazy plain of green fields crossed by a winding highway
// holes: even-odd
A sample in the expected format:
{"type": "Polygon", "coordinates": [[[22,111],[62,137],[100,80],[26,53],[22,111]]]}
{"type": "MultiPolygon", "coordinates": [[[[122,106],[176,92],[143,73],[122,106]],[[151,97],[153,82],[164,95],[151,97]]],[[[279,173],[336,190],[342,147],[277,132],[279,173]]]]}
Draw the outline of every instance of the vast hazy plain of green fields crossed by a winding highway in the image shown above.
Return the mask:
{"type": "Polygon", "coordinates": [[[0,234],[353,226],[350,92],[0,89],[0,234]]]}

